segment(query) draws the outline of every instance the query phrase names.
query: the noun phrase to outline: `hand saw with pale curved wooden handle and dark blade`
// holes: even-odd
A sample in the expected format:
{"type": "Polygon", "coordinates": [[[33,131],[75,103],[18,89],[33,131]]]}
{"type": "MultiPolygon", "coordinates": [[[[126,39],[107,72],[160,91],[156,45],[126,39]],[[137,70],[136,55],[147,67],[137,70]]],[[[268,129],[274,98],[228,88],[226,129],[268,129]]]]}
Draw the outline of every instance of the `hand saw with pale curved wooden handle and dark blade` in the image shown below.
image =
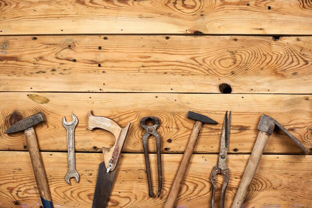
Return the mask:
{"type": "Polygon", "coordinates": [[[92,208],[106,208],[111,189],[116,175],[120,153],[125,143],[125,139],[130,127],[128,122],[122,128],[116,121],[108,117],[94,116],[92,111],[89,113],[89,129],[102,128],[114,134],[116,141],[111,148],[102,148],[104,162],[100,163],[98,177],[95,185],[92,208]]]}

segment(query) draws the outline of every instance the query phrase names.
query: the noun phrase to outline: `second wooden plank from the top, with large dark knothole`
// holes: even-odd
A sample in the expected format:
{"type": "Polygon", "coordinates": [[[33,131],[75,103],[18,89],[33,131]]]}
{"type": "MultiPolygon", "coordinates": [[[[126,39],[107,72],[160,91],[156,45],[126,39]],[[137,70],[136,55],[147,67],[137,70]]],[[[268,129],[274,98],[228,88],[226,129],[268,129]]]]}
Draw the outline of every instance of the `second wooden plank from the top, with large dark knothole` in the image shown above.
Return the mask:
{"type": "Polygon", "coordinates": [[[220,93],[227,83],[232,93],[312,94],[311,36],[4,36],[0,43],[0,91],[220,93]]]}

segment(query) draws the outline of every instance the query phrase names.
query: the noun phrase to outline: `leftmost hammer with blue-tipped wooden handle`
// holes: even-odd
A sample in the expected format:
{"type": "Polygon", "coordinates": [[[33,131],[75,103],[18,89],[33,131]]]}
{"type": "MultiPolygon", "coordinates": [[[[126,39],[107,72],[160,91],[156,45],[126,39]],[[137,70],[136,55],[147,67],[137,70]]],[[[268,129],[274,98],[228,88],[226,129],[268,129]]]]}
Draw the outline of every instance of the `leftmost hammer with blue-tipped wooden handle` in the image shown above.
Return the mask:
{"type": "Polygon", "coordinates": [[[43,112],[38,112],[34,115],[17,121],[6,131],[4,131],[4,133],[8,134],[18,131],[24,131],[32,169],[35,175],[36,184],[39,190],[43,208],[53,208],[48,182],[46,180],[43,163],[39,152],[38,142],[36,139],[36,134],[33,129],[34,125],[41,122],[45,122],[45,116],[43,112]]]}

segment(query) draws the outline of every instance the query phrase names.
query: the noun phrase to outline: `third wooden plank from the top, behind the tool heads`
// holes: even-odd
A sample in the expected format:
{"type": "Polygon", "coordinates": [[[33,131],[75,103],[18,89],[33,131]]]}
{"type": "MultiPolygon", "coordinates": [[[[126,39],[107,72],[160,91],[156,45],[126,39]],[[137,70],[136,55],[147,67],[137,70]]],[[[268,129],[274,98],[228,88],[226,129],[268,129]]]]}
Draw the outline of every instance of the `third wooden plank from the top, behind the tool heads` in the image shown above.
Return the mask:
{"type": "MultiPolygon", "coordinates": [[[[110,147],[112,134],[88,130],[87,115],[108,116],[130,126],[124,152],[143,152],[145,133],[140,119],[159,117],[162,152],[182,153],[185,150],[194,121],[187,119],[188,110],[210,116],[218,125],[204,124],[197,141],[196,153],[219,152],[219,139],[226,110],[232,110],[229,152],[250,153],[258,135],[262,113],[277,119],[306,148],[312,148],[312,95],[211,95],[211,94],[114,94],[114,93],[0,93],[0,149],[25,150],[23,133],[4,134],[4,130],[19,116],[43,111],[47,122],[35,128],[41,150],[67,151],[66,130],[62,117],[79,119],[75,131],[77,151],[101,152],[110,147]]],[[[149,149],[156,152],[155,139],[149,139],[149,149]]],[[[281,132],[270,137],[265,153],[300,153],[291,139],[281,132]]]]}

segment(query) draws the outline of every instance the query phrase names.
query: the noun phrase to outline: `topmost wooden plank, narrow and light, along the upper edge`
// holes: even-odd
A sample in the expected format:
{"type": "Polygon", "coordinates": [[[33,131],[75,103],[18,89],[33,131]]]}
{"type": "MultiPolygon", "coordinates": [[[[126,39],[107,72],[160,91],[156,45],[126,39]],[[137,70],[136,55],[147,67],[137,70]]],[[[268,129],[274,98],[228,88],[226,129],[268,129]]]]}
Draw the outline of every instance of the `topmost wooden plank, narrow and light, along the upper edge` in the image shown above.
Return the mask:
{"type": "Polygon", "coordinates": [[[0,34],[312,34],[303,0],[3,0],[0,34]]]}

